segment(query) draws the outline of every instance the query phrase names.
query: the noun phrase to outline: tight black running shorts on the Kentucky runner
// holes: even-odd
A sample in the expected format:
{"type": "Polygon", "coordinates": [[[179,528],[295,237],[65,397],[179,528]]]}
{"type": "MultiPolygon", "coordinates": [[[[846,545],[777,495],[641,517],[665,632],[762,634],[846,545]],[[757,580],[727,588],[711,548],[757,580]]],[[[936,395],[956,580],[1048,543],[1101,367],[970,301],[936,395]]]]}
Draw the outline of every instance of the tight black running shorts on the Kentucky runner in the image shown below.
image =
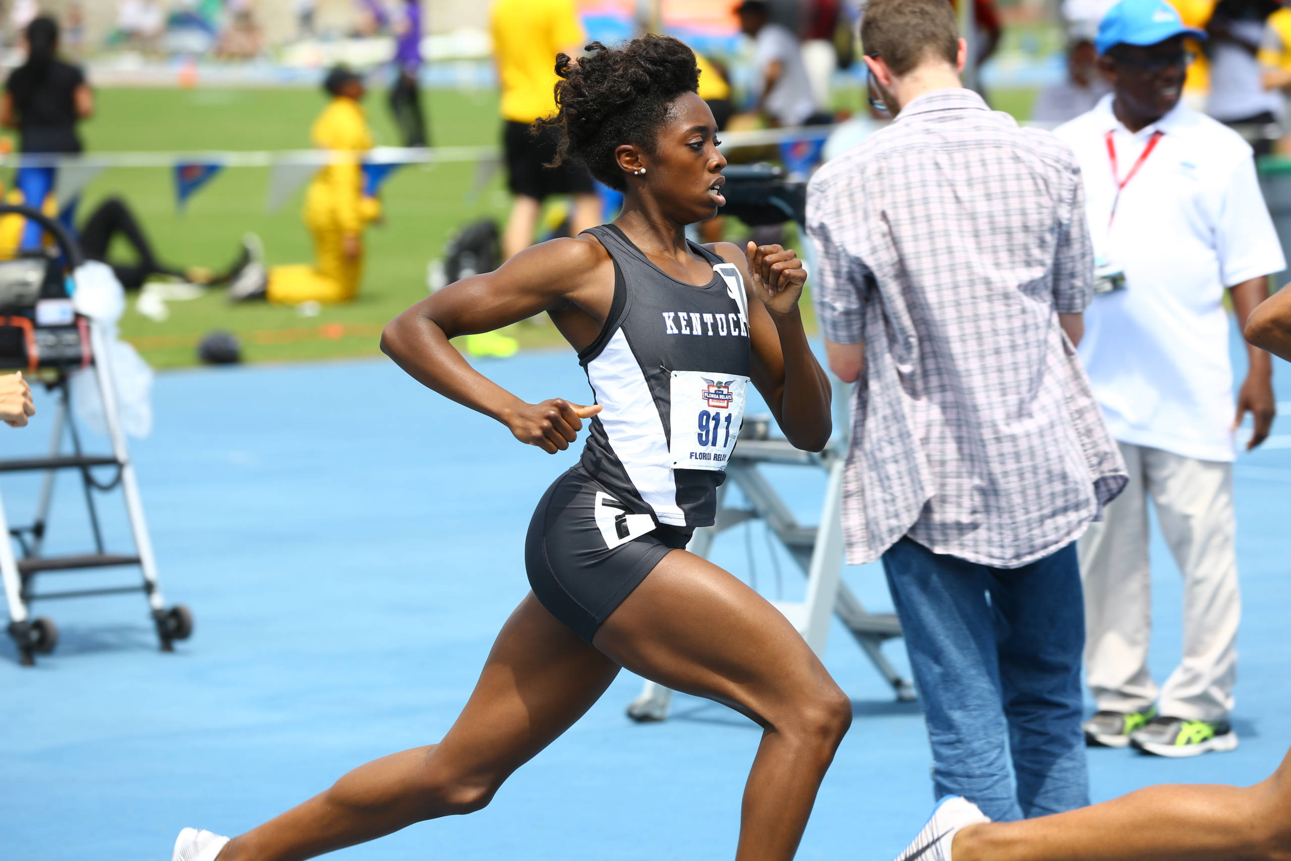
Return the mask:
{"type": "Polygon", "coordinates": [[[591,643],[646,574],[686,547],[692,532],[629,511],[576,466],[547,488],[529,522],[529,586],[553,616],[591,643]]]}

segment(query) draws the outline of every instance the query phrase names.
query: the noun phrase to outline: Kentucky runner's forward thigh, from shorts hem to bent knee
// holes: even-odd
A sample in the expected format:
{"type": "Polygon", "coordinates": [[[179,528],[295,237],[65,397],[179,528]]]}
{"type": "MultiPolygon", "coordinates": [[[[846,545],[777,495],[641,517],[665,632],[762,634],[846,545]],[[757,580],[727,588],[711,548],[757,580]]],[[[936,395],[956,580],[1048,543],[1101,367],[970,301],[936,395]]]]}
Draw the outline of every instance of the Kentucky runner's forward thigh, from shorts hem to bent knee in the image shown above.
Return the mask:
{"type": "Polygon", "coordinates": [[[763,725],[804,692],[837,692],[780,611],[684,550],[655,567],[594,642],[638,675],[724,702],[763,725]]]}

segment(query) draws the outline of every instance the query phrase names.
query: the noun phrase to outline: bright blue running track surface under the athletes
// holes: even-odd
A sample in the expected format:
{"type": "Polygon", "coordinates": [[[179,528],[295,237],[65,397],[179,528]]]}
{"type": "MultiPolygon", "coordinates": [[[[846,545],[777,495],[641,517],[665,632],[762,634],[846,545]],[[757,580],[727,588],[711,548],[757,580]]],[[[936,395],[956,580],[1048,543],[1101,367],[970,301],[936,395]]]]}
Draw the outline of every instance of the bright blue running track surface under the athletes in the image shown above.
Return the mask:
{"type": "MultiPolygon", "coordinates": [[[[587,398],[571,354],[529,354],[485,372],[523,398],[587,398]]],[[[1282,400],[1291,373],[1279,364],[1282,400]]],[[[37,401],[45,407],[48,399],[37,401]]],[[[0,855],[48,861],[169,857],[181,826],[231,834],[368,759],[438,740],[465,702],[498,626],[527,590],[532,507],[573,452],[547,457],[503,427],[421,390],[386,361],[259,367],[159,377],[156,430],[134,445],[168,600],[196,633],[159,654],[141,596],[37,604],[58,651],[21,669],[0,639],[0,855]]],[[[1291,412],[1291,410],[1288,410],[1291,412]]],[[[1291,434],[1283,418],[1282,434],[1291,434]]],[[[39,452],[48,426],[3,429],[5,457],[39,452]]],[[[1285,444],[1291,436],[1285,436],[1285,444]]],[[[822,476],[782,475],[806,523],[822,476]]],[[[34,480],[4,476],[22,522],[34,480]]],[[[50,550],[86,541],[72,475],[59,481],[50,550]]],[[[1291,447],[1237,467],[1242,629],[1233,754],[1195,760],[1091,751],[1105,799],[1163,781],[1254,782],[1291,745],[1291,447]]],[[[123,546],[124,519],[105,509],[123,546]]],[[[760,525],[719,540],[741,576],[793,596],[802,576],[760,525]]],[[[1154,558],[1158,676],[1179,653],[1180,589],[1154,558]]],[[[49,578],[72,585],[81,576],[49,578]]],[[[849,569],[871,609],[880,572],[849,569]]],[[[92,585],[105,585],[98,574],[92,585]]],[[[905,666],[900,643],[889,653],[905,666]]],[[[835,625],[826,663],[856,722],[821,790],[799,857],[893,857],[932,807],[917,707],[886,685],[835,625]]],[[[680,697],[664,724],[624,715],[627,674],[488,809],[430,822],[349,858],[727,858],[757,728],[680,697]]]]}

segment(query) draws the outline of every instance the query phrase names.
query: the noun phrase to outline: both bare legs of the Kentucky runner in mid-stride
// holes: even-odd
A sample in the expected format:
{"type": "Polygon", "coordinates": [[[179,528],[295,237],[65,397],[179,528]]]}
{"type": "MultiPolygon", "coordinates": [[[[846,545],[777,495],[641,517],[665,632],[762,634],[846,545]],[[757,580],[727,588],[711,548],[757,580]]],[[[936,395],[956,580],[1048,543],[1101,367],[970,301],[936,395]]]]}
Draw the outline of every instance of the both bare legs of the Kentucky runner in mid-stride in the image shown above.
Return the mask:
{"type": "Polygon", "coordinates": [[[443,741],[360,765],[234,838],[219,861],[298,861],[478,811],[591,707],[620,666],[726,702],[764,728],[736,858],[791,858],[851,704],[777,609],[717,565],[674,550],[602,626],[595,648],[525,596],[443,741]]]}

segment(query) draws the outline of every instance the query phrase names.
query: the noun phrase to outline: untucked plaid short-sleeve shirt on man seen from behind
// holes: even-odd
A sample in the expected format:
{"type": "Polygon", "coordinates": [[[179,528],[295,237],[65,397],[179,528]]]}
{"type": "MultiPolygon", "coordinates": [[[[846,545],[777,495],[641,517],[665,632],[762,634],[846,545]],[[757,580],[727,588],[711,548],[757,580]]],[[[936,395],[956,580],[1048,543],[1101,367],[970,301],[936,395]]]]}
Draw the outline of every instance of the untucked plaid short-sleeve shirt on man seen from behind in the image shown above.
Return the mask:
{"type": "Polygon", "coordinates": [[[812,178],[821,329],[865,343],[849,563],[908,534],[1016,568],[1078,538],[1124,487],[1057,318],[1092,296],[1083,195],[1064,143],[967,89],[918,97],[812,178]]]}

